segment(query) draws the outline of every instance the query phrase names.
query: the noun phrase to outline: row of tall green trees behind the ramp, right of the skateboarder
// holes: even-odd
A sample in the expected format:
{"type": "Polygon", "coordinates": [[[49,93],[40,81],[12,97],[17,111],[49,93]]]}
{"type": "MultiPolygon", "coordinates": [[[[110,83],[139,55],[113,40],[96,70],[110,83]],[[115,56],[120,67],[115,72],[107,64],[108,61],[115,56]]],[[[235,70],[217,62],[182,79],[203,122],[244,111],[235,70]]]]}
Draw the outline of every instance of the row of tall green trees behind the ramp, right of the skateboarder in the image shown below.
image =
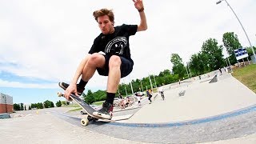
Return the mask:
{"type": "MultiPolygon", "coordinates": [[[[218,41],[215,38],[207,39],[202,43],[201,51],[197,54],[192,54],[190,62],[186,64],[182,62],[182,58],[178,54],[171,54],[170,61],[173,63],[173,73],[178,74],[179,78],[189,78],[218,70],[223,66],[229,66],[228,62],[230,62],[230,65],[234,65],[238,62],[234,50],[242,48],[238,35],[234,34],[234,32],[227,32],[223,34],[222,42],[224,46],[218,45],[218,41]],[[227,58],[224,58],[223,50],[227,51],[229,55],[227,58]]],[[[246,47],[249,55],[248,60],[253,55],[252,49],[256,50],[255,47],[246,47]]]]}

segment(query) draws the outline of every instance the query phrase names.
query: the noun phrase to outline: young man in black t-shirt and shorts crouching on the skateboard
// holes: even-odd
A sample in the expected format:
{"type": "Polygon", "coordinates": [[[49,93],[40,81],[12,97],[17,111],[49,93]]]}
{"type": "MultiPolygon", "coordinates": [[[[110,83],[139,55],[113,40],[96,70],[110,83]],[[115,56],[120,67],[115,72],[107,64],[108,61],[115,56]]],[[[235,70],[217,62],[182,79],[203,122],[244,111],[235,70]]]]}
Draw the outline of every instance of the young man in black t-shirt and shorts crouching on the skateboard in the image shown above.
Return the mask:
{"type": "Polygon", "coordinates": [[[91,46],[89,54],[80,62],[72,82],[66,84],[59,82],[59,86],[65,89],[65,97],[69,99],[70,94],[81,95],[87,82],[94,75],[108,76],[106,86],[106,102],[102,104],[102,109],[94,113],[95,116],[111,119],[113,102],[120,79],[126,77],[133,70],[134,62],[130,58],[130,35],[138,31],[147,29],[146,15],[142,0],[133,0],[135,8],[140,16],[139,25],[125,25],[114,27],[114,14],[112,10],[102,9],[94,11],[94,18],[102,31],[94,44],[91,46]],[[103,54],[102,54],[103,52],[103,54]],[[80,78],[78,82],[78,78],[80,78]]]}

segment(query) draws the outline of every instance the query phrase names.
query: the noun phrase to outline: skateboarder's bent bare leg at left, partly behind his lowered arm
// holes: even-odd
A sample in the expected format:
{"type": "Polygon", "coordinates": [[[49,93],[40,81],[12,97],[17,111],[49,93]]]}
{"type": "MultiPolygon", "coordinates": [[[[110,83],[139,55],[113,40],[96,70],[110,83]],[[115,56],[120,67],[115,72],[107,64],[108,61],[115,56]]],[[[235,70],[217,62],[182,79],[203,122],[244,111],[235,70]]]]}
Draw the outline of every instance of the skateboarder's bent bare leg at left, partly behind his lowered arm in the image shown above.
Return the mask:
{"type": "Polygon", "coordinates": [[[97,67],[105,65],[105,58],[102,54],[91,54],[82,70],[82,80],[88,82],[95,73],[97,67]]]}

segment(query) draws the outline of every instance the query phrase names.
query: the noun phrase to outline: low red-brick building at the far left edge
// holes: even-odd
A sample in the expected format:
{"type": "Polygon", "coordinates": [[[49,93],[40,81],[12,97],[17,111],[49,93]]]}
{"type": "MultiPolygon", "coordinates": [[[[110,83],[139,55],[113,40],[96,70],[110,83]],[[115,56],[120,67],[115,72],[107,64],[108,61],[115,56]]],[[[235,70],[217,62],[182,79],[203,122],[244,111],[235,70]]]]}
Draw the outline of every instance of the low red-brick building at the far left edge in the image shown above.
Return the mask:
{"type": "Polygon", "coordinates": [[[0,93],[0,114],[1,113],[13,113],[14,102],[10,95],[0,93]]]}

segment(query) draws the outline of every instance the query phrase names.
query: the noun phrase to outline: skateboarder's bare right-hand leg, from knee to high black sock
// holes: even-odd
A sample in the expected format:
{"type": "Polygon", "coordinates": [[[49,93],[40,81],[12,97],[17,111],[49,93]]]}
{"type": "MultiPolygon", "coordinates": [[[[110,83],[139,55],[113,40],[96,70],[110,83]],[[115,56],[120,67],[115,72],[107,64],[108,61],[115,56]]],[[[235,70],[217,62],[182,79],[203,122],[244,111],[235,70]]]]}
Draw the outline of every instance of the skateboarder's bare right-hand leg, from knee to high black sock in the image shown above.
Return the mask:
{"type": "Polygon", "coordinates": [[[116,93],[118,90],[118,85],[121,79],[121,59],[120,57],[113,55],[110,58],[109,62],[109,76],[107,79],[106,92],[108,93],[116,93]]]}

